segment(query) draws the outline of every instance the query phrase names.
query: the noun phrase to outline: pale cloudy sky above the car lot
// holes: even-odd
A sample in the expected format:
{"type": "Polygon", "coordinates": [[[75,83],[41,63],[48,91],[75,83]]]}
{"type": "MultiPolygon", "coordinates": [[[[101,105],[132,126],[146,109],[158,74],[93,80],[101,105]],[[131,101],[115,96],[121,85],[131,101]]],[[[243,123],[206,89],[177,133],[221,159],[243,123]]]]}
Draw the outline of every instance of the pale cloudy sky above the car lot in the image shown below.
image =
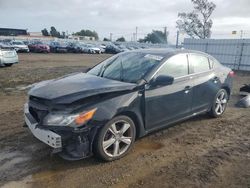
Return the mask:
{"type": "MultiPolygon", "coordinates": [[[[250,37],[250,0],[212,0],[213,38],[250,37]],[[237,35],[232,35],[232,31],[237,35]]],[[[168,28],[169,41],[176,40],[179,12],[192,11],[191,0],[0,0],[0,27],[39,32],[55,26],[69,34],[81,29],[98,32],[101,39],[131,40],[138,27],[138,38],[154,30],[168,28]]],[[[185,37],[181,34],[181,38],[185,37]]]]}

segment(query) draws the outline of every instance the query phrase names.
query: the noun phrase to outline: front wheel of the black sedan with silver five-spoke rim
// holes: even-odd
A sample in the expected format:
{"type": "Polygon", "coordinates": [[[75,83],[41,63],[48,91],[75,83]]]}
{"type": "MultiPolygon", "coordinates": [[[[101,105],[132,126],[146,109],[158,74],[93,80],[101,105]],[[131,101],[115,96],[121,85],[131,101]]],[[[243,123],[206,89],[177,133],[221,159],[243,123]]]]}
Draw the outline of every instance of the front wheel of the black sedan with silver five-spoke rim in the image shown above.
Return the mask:
{"type": "Polygon", "coordinates": [[[130,151],[135,137],[134,122],[127,116],[117,116],[99,130],[93,145],[94,154],[104,161],[120,159],[130,151]]]}

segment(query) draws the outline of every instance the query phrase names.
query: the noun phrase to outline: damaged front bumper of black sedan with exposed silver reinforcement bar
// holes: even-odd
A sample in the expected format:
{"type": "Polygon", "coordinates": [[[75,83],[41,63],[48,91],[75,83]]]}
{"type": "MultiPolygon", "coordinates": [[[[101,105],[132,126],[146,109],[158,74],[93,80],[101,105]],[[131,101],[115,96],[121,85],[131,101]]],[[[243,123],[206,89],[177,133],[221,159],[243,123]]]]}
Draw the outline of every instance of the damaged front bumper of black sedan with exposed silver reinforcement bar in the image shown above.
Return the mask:
{"type": "Polygon", "coordinates": [[[61,130],[60,127],[45,127],[38,125],[29,111],[29,105],[24,105],[24,119],[32,134],[40,141],[53,148],[52,153],[58,153],[66,160],[79,160],[92,155],[92,144],[97,127],[83,128],[77,131],[61,130]]]}

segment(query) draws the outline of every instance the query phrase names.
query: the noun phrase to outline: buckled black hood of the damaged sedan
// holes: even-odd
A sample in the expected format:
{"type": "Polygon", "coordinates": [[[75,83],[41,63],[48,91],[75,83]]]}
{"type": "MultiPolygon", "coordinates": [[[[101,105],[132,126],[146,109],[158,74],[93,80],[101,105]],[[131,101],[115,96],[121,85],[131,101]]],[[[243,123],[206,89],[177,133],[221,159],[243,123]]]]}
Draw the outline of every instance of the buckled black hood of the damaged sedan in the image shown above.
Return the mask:
{"type": "Polygon", "coordinates": [[[59,103],[70,103],[102,93],[132,90],[136,84],[76,73],[36,84],[29,95],[59,103]]]}

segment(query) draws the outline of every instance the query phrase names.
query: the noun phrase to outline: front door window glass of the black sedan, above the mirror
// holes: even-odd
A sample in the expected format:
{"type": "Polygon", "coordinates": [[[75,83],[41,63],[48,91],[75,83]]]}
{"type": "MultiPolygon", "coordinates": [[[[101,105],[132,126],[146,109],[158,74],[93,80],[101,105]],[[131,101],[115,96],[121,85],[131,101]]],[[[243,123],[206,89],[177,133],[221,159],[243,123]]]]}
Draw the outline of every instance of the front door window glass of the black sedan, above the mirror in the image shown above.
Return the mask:
{"type": "Polygon", "coordinates": [[[187,55],[179,54],[169,58],[157,74],[174,78],[188,75],[187,55]]]}

